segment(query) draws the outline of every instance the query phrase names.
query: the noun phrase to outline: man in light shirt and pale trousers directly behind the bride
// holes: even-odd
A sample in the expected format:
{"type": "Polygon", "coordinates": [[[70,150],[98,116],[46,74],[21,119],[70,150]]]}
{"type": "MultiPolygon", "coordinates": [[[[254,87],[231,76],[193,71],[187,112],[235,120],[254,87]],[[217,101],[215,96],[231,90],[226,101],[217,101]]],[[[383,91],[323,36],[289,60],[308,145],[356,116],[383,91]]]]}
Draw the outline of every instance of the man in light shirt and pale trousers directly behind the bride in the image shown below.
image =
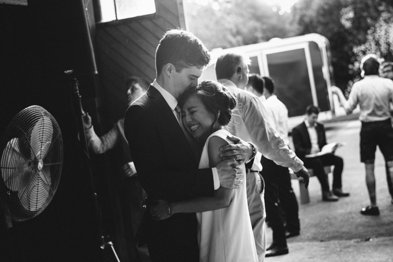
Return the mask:
{"type": "MultiPolygon", "coordinates": [[[[309,174],[303,168],[303,162],[288,148],[285,141],[279,137],[274,123],[266,112],[261,100],[253,93],[244,90],[248,82],[248,65],[250,58],[244,54],[228,53],[217,59],[216,75],[218,81],[226,85],[237,98],[237,114],[234,115],[234,125],[229,131],[245,141],[251,141],[258,147],[259,152],[277,164],[293,169],[298,176],[305,179],[307,187],[309,174]]],[[[266,252],[265,219],[263,192],[257,190],[258,171],[261,167],[254,165],[246,175],[247,202],[253,229],[255,245],[259,262],[264,260],[266,252]],[[262,197],[261,197],[262,196],[262,197]]],[[[274,255],[288,253],[281,249],[274,255]]]]}

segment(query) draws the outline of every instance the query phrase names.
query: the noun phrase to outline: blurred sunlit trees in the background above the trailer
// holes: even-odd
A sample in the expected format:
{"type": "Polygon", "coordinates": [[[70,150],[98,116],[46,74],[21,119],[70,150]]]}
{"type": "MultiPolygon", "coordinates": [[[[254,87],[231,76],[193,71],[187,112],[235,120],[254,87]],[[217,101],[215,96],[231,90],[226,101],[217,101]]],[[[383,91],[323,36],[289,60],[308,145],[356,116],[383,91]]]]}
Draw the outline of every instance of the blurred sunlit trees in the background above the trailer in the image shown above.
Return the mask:
{"type": "Polygon", "coordinates": [[[392,0],[299,0],[291,12],[267,0],[184,0],[188,29],[208,49],[318,33],[330,42],[334,81],[344,89],[359,60],[376,53],[393,61],[392,0]]]}

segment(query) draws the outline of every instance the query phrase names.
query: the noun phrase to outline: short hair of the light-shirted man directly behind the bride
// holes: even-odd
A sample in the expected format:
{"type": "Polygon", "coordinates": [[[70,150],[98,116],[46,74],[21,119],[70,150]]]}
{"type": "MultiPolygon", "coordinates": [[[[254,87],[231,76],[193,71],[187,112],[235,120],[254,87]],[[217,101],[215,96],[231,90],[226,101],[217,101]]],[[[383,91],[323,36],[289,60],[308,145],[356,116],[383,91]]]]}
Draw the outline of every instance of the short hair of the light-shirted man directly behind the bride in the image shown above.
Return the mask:
{"type": "Polygon", "coordinates": [[[240,73],[242,62],[251,64],[250,57],[242,53],[227,53],[221,55],[216,62],[217,79],[231,79],[235,73],[240,73]]]}

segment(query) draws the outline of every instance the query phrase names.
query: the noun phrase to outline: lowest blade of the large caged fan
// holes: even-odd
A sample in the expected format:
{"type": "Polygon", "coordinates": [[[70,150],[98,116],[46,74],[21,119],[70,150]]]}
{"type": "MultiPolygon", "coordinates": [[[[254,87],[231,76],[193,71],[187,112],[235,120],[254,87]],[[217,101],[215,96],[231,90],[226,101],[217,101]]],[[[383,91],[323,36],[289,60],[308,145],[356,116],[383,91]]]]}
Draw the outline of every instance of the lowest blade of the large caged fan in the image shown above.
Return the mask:
{"type": "Polygon", "coordinates": [[[48,196],[48,185],[37,174],[23,191],[18,191],[20,203],[26,211],[38,211],[41,209],[45,205],[48,196]]]}

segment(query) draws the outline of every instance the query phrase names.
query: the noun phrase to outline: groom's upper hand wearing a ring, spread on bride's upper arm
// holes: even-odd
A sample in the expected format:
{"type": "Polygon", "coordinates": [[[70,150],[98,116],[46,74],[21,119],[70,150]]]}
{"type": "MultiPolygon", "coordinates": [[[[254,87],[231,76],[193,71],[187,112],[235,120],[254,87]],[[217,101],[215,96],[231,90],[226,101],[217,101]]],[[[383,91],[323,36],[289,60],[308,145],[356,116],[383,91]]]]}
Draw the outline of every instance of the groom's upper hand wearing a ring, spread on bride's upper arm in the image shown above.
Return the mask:
{"type": "Polygon", "coordinates": [[[246,163],[252,156],[252,145],[236,136],[228,136],[227,138],[233,141],[234,144],[221,147],[220,150],[222,153],[220,157],[222,157],[223,160],[235,159],[237,161],[237,166],[246,163]]]}

